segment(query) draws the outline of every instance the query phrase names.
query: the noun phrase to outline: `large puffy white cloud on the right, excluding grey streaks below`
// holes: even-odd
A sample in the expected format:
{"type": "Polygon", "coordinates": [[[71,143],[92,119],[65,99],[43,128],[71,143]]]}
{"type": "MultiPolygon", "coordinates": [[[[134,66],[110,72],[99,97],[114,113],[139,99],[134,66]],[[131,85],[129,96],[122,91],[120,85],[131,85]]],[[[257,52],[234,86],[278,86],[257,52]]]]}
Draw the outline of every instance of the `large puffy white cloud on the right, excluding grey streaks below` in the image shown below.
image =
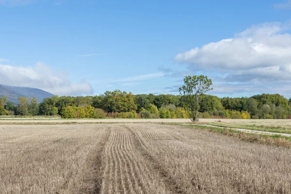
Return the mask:
{"type": "Polygon", "coordinates": [[[264,23],[236,37],[179,53],[175,62],[189,69],[228,73],[228,77],[252,75],[252,79],[291,80],[291,34],[288,23],[264,23]]]}

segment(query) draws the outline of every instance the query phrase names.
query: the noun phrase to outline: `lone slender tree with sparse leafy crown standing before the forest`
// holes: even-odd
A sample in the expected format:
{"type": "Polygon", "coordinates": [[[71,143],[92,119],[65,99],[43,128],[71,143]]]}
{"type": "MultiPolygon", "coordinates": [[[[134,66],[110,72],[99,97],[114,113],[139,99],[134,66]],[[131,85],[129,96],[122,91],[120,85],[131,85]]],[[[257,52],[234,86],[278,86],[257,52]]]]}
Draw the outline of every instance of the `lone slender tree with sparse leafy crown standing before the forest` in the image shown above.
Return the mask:
{"type": "Polygon", "coordinates": [[[197,120],[201,96],[213,89],[210,88],[211,85],[212,81],[207,76],[185,76],[184,85],[179,88],[179,92],[192,122],[197,120]]]}

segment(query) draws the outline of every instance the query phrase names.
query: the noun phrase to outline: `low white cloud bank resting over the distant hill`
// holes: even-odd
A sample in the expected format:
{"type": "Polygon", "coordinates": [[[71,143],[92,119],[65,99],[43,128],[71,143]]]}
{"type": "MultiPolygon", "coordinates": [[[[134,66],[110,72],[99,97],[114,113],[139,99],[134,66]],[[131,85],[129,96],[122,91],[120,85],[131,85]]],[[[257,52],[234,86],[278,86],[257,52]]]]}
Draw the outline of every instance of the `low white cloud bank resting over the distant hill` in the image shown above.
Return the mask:
{"type": "Polygon", "coordinates": [[[0,84],[39,88],[60,96],[93,93],[89,83],[71,83],[64,73],[52,71],[42,62],[37,62],[33,67],[0,65],[0,84]]]}

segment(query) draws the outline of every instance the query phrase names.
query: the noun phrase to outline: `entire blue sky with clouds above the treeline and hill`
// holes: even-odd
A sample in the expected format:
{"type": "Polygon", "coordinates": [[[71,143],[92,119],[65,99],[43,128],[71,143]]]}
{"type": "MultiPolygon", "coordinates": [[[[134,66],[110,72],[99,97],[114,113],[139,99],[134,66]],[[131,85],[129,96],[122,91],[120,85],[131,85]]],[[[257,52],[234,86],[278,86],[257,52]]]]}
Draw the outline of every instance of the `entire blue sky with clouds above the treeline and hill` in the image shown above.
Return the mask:
{"type": "Polygon", "coordinates": [[[0,84],[59,96],[291,97],[291,0],[0,0],[0,84]]]}

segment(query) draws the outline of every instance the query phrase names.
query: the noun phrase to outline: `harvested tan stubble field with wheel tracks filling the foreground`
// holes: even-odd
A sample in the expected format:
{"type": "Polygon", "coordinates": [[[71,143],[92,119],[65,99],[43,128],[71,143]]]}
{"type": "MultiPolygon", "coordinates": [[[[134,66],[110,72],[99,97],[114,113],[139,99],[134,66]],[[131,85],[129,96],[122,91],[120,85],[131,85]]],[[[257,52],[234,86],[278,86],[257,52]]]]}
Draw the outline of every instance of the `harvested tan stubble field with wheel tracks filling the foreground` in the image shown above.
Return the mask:
{"type": "Polygon", "coordinates": [[[1,125],[3,194],[290,194],[291,149],[152,123],[1,125]]]}

